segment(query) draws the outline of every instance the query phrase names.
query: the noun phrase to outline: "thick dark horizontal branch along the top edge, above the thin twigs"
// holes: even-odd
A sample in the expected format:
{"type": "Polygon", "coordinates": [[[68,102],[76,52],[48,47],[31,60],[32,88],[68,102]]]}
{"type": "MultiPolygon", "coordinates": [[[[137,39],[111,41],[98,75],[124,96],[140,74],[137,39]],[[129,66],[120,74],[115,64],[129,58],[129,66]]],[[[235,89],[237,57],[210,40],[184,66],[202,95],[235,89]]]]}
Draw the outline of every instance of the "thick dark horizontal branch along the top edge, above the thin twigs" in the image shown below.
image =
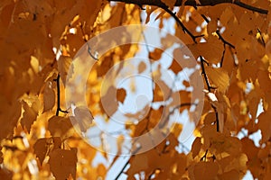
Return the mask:
{"type": "MultiPolygon", "coordinates": [[[[161,0],[107,0],[108,2],[110,1],[115,1],[115,2],[123,2],[126,4],[137,4],[138,6],[140,6],[141,8],[143,8],[143,5],[155,5],[158,7],[163,8],[164,6],[166,6],[166,8],[168,8],[168,6],[166,4],[164,4],[161,0]]],[[[197,4],[195,0],[187,0],[185,1],[184,5],[188,5],[188,6],[213,6],[216,4],[236,4],[239,7],[242,7],[244,9],[247,9],[249,11],[253,11],[253,12],[257,12],[259,14],[268,14],[268,10],[266,9],[262,9],[262,8],[258,8],[249,4],[244,4],[242,2],[240,2],[239,0],[200,0],[201,4],[197,4]]],[[[176,0],[176,3],[174,6],[181,6],[182,5],[182,0],[176,0]]]]}

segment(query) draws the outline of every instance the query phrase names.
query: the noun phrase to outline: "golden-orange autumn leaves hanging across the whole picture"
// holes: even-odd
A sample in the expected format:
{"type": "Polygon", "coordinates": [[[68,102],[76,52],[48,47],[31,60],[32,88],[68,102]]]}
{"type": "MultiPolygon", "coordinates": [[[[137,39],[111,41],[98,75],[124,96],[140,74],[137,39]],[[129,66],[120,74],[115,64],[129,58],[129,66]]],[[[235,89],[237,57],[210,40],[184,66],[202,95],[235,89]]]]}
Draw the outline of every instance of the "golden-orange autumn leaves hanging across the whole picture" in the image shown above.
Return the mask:
{"type": "MultiPolygon", "coordinates": [[[[270,10],[268,0],[1,0],[0,179],[242,179],[248,171],[271,179],[270,10]],[[108,155],[103,133],[89,137],[98,139],[95,148],[78,132],[87,134],[99,120],[86,118],[90,112],[105,124],[112,121],[139,88],[137,81],[111,85],[107,72],[114,66],[117,73],[150,71],[153,78],[162,78],[163,68],[174,78],[182,74],[184,67],[158,48],[125,44],[101,57],[89,52],[97,58],[84,94],[89,109],[67,107],[67,98],[75,95],[65,94],[67,82],[84,71],[72,64],[79,49],[104,31],[130,24],[155,24],[182,40],[204,87],[176,81],[183,88],[173,89],[166,80],[154,82],[145,118],[135,122],[142,111],[126,112],[123,130],[138,137],[174,114],[187,113],[182,118],[196,122],[190,112],[201,104],[191,147],[179,139],[181,122],[157,146],[139,154],[134,148],[127,160],[119,156],[124,135],[117,134],[116,154],[108,155]],[[126,59],[142,49],[151,60],[139,58],[128,67],[126,59]],[[203,100],[192,102],[192,91],[204,93],[203,100]],[[107,101],[114,95],[116,101],[107,101]],[[174,95],[182,103],[171,109],[175,99],[168,97],[174,95]],[[118,160],[123,163],[115,166],[118,160]],[[112,169],[115,176],[107,176],[112,169]]],[[[178,53],[166,38],[161,37],[164,47],[178,53]]]]}

